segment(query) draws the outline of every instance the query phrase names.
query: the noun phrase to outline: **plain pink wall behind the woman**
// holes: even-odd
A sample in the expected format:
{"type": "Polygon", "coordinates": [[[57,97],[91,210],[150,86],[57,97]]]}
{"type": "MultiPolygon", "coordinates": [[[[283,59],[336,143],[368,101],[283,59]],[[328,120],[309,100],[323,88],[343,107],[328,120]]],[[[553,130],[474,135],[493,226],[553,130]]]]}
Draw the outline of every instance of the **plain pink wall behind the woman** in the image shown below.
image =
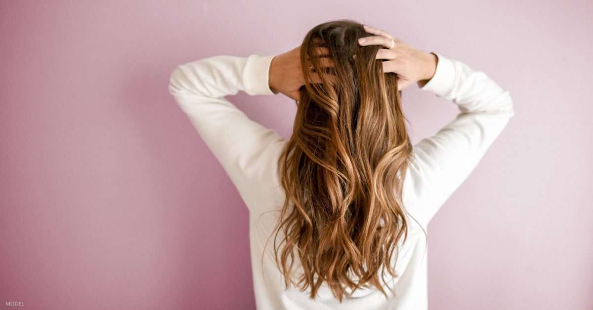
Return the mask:
{"type": "MultiPolygon", "coordinates": [[[[0,2],[1,305],[254,309],[246,206],[168,78],[353,18],[514,100],[429,226],[430,308],[593,309],[593,2],[369,3],[0,2]]],[[[288,97],[228,98],[290,134],[288,97]]],[[[457,113],[415,85],[404,108],[414,142],[457,113]]]]}

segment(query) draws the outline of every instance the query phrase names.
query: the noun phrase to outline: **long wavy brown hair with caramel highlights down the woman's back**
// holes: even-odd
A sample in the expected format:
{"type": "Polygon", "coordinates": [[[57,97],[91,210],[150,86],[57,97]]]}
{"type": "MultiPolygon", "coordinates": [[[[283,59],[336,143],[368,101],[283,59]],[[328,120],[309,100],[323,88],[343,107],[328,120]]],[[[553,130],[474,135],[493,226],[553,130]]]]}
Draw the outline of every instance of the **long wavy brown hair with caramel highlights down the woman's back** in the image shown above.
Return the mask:
{"type": "Polygon", "coordinates": [[[407,239],[401,190],[412,143],[397,75],[384,73],[375,59],[382,46],[358,44],[367,36],[356,21],[334,20],[311,29],[301,45],[306,83],[278,159],[286,199],[274,253],[286,288],[311,287],[311,299],[323,282],[340,302],[352,296],[346,287],[375,286],[387,297],[379,271],[384,283],[385,269],[398,276],[391,259],[400,238],[407,239]],[[318,47],[329,53],[320,55],[318,47]],[[331,57],[334,66],[324,66],[321,57],[331,57]],[[313,82],[310,66],[321,82],[313,82]],[[276,244],[280,231],[285,237],[276,244]],[[295,254],[304,271],[298,282],[292,279],[295,254]]]}

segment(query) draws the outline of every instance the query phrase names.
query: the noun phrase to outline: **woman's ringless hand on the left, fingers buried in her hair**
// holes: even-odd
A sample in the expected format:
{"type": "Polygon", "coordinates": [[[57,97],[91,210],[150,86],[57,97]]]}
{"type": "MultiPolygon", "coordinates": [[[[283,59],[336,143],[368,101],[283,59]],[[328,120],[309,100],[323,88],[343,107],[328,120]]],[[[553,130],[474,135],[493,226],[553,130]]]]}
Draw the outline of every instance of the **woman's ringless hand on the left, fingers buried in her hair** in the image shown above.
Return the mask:
{"type": "MultiPolygon", "coordinates": [[[[327,55],[326,48],[318,48],[317,55],[327,55]]],[[[329,67],[333,64],[329,57],[323,57],[321,63],[324,67],[329,67]]],[[[307,68],[310,68],[307,64],[307,68]]],[[[310,69],[310,75],[313,82],[320,83],[321,79],[317,73],[310,69]]],[[[272,58],[270,63],[269,81],[270,90],[275,93],[282,92],[293,100],[300,98],[300,91],[303,85],[305,85],[305,78],[302,72],[301,65],[301,46],[297,46],[288,52],[276,55],[272,58]]]]}

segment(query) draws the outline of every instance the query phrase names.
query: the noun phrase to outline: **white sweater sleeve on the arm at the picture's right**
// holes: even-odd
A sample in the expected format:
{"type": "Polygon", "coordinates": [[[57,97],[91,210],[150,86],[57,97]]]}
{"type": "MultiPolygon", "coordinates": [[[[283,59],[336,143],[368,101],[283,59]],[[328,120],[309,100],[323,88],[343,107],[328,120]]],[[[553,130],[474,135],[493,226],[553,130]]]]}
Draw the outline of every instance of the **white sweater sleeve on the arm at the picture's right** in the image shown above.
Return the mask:
{"type": "Polygon", "coordinates": [[[508,90],[484,72],[434,54],[438,57],[435,75],[420,89],[452,101],[459,113],[434,135],[413,145],[404,196],[412,195],[408,197],[411,207],[425,225],[514,116],[508,90]]]}

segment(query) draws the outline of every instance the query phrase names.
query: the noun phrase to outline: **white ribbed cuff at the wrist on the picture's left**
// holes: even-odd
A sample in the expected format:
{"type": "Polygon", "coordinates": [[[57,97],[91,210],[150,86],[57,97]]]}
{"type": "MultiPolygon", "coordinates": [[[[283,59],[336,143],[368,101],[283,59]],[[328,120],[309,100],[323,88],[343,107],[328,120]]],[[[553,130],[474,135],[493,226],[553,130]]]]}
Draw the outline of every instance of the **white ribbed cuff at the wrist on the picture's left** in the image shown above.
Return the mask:
{"type": "Polygon", "coordinates": [[[275,95],[269,85],[270,64],[273,57],[274,55],[260,56],[257,54],[247,57],[243,81],[247,94],[275,95]]]}

